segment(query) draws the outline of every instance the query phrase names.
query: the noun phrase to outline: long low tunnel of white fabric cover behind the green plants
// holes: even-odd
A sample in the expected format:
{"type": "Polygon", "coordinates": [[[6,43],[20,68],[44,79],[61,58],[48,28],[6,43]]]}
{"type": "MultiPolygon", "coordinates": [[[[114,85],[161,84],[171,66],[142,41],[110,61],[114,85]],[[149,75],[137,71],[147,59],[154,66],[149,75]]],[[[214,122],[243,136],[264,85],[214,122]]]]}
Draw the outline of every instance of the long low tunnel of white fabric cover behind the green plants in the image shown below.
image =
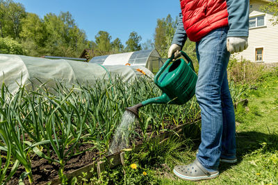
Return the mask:
{"type": "Polygon", "coordinates": [[[143,73],[154,78],[151,71],[141,66],[102,66],[73,60],[0,54],[0,85],[5,82],[12,94],[18,90],[18,85],[34,90],[44,82],[47,82],[46,87],[56,87],[58,81],[72,87],[78,82],[88,85],[94,85],[97,80],[113,82],[119,76],[123,82],[131,82],[138,76],[145,76],[143,73]]]}

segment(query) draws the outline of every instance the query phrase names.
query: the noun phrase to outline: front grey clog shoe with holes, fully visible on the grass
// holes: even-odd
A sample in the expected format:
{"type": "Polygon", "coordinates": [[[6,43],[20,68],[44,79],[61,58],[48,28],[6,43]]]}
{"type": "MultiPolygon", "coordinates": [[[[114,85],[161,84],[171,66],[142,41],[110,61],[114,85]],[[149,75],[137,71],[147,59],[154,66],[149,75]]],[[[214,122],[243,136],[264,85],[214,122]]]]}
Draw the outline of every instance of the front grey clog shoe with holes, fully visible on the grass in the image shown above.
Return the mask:
{"type": "Polygon", "coordinates": [[[218,177],[219,172],[218,170],[209,172],[197,159],[195,159],[192,164],[175,166],[174,175],[177,175],[177,177],[184,180],[199,181],[204,179],[214,179],[218,177]]]}

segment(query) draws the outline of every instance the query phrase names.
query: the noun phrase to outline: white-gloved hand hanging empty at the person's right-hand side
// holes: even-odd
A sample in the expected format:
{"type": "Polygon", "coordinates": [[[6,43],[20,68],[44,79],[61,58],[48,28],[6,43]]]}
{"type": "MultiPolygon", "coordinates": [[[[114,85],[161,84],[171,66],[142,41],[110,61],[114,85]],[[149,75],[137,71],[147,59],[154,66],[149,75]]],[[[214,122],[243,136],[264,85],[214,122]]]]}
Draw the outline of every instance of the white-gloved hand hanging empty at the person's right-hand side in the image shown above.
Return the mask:
{"type": "Polygon", "coordinates": [[[234,54],[247,49],[247,39],[248,37],[227,37],[227,50],[234,54]]]}

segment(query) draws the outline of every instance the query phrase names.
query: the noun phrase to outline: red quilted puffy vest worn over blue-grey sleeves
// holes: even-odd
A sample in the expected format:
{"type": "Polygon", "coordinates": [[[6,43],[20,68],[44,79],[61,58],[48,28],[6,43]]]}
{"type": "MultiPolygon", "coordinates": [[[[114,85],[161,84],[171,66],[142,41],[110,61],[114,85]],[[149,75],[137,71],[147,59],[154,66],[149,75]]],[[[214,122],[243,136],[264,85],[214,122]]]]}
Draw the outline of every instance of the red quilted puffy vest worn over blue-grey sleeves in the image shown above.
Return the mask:
{"type": "Polygon", "coordinates": [[[225,0],[180,0],[186,35],[198,42],[216,28],[228,26],[225,0]]]}

